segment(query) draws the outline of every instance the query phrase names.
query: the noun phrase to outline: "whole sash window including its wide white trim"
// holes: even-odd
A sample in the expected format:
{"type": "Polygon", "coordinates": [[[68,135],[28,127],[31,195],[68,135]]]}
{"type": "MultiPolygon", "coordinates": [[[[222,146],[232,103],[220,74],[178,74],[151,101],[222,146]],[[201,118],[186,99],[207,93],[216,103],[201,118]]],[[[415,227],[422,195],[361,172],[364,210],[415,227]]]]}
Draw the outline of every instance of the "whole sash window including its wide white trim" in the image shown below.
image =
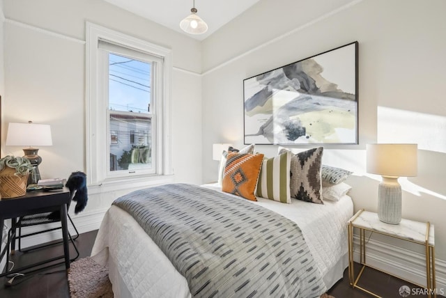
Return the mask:
{"type": "Polygon", "coordinates": [[[87,23],[91,184],[171,174],[169,49],[87,23]]]}

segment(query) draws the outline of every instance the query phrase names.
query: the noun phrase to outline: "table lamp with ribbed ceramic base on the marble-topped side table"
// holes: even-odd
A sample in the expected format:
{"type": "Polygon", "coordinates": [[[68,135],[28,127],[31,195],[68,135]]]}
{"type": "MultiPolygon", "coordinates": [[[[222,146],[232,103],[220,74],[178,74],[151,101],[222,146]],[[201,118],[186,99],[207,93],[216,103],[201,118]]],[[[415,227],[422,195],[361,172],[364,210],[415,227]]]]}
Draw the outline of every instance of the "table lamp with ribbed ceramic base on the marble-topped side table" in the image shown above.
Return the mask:
{"type": "Polygon", "coordinates": [[[367,173],[383,177],[378,187],[378,218],[387,224],[399,224],[398,178],[417,175],[417,144],[367,144],[367,173]]]}

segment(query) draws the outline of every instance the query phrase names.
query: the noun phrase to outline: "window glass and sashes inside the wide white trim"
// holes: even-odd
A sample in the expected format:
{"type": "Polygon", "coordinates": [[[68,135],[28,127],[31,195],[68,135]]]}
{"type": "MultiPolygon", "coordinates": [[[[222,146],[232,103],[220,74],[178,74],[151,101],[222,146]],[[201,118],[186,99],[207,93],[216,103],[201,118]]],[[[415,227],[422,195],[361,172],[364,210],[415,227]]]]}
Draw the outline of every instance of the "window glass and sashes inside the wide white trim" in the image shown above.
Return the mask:
{"type": "Polygon", "coordinates": [[[100,85],[107,93],[100,95],[107,102],[107,127],[110,133],[109,175],[125,175],[126,171],[155,173],[156,139],[152,125],[153,110],[160,101],[156,84],[162,77],[163,59],[100,40],[100,85]],[[137,137],[134,132],[137,130],[137,137]],[[132,140],[130,135],[133,134],[132,140]]]}

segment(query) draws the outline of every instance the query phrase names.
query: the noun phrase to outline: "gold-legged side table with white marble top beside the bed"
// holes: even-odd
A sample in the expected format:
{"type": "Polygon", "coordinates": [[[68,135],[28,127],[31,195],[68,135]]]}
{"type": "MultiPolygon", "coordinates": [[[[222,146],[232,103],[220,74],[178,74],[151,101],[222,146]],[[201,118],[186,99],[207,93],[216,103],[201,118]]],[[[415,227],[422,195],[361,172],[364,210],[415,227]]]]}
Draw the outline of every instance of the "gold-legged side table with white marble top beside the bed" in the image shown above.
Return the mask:
{"type": "MultiPolygon", "coordinates": [[[[349,221],[348,221],[348,279],[350,285],[353,288],[358,288],[364,292],[373,295],[374,297],[380,297],[373,292],[361,288],[357,285],[362,272],[364,272],[365,267],[371,267],[385,274],[395,276],[399,279],[401,276],[396,276],[389,272],[385,272],[381,269],[368,265],[366,262],[366,242],[365,242],[365,231],[370,231],[372,233],[379,233],[389,237],[398,238],[401,240],[406,240],[408,242],[413,242],[424,246],[426,253],[426,285],[415,285],[421,288],[426,288],[429,297],[436,296],[436,277],[435,277],[435,240],[434,240],[434,228],[433,225],[428,222],[422,223],[419,221],[410,221],[408,219],[401,219],[401,223],[397,225],[385,224],[383,221],[378,219],[378,214],[375,212],[368,212],[359,210],[349,221]],[[353,269],[353,228],[359,230],[360,236],[360,264],[362,268],[359,274],[355,277],[355,272],[353,269]]],[[[403,279],[406,280],[406,279],[403,279]]],[[[407,281],[407,280],[406,280],[407,281]]],[[[408,281],[413,283],[413,281],[408,281]]]]}

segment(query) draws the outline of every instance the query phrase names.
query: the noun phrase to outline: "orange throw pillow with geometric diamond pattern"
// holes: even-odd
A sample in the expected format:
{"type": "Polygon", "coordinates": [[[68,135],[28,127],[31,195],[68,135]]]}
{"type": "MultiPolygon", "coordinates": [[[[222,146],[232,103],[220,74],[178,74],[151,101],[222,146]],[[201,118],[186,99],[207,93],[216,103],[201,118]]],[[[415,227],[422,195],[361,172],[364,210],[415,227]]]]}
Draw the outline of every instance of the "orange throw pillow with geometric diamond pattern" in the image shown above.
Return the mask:
{"type": "Polygon", "coordinates": [[[228,153],[223,172],[222,191],[257,201],[255,194],[263,154],[228,153]]]}

